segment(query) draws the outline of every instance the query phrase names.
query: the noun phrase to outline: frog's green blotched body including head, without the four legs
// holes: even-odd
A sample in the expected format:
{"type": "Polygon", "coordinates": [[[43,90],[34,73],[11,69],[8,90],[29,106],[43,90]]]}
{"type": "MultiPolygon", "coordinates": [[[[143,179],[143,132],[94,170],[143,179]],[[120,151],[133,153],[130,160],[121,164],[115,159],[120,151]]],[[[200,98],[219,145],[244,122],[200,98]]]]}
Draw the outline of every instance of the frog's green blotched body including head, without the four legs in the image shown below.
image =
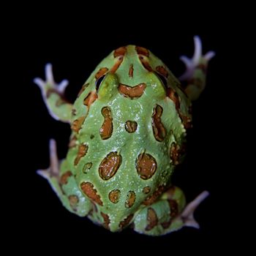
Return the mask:
{"type": "Polygon", "coordinates": [[[178,80],[145,48],[118,48],[99,64],[75,102],[67,157],[94,205],[94,222],[119,230],[170,184],[189,104],[178,80]]]}

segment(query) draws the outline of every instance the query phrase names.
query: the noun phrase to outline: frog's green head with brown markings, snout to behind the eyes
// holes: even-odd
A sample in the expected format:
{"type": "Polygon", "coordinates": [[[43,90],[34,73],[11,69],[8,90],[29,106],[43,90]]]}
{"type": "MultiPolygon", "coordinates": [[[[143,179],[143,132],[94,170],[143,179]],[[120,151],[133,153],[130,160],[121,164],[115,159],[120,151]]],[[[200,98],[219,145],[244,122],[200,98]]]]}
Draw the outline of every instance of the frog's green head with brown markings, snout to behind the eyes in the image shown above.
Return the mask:
{"type": "Polygon", "coordinates": [[[135,45],[113,50],[91,74],[97,98],[109,100],[117,94],[136,99],[147,94],[168,97],[180,83],[165,64],[146,48],[135,45]]]}

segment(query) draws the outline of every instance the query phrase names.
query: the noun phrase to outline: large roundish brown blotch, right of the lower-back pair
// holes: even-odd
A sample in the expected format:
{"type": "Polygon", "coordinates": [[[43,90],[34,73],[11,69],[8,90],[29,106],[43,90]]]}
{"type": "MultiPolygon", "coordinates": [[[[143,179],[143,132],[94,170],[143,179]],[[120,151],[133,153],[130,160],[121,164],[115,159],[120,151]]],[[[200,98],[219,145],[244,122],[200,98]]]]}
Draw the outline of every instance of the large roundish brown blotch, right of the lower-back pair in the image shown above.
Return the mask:
{"type": "Polygon", "coordinates": [[[151,178],[157,170],[157,162],[150,154],[140,154],[136,161],[136,168],[140,178],[151,178]]]}

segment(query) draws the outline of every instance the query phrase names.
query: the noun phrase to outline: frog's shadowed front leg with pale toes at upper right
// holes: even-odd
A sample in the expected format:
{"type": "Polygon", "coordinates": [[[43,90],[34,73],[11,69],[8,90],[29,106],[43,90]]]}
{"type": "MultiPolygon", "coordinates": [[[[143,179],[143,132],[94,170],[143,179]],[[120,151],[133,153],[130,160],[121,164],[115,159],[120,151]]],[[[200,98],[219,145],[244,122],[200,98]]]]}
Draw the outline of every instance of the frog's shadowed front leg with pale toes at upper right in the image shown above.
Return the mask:
{"type": "Polygon", "coordinates": [[[187,58],[187,56],[181,56],[181,61],[184,62],[187,70],[179,78],[181,82],[184,82],[187,96],[192,100],[197,99],[205,89],[208,61],[215,55],[214,51],[209,51],[203,56],[200,37],[194,37],[194,42],[195,52],[192,59],[187,58]]]}

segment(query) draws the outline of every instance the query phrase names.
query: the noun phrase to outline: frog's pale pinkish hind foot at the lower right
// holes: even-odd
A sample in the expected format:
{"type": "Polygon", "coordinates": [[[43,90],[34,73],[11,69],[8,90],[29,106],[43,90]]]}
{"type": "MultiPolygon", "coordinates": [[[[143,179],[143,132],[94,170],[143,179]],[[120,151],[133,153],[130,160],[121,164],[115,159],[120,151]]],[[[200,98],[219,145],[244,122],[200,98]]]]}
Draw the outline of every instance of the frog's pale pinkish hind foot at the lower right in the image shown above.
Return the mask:
{"type": "Polygon", "coordinates": [[[204,191],[202,192],[200,195],[198,195],[197,197],[195,197],[194,200],[192,200],[192,202],[190,202],[182,211],[180,218],[182,219],[182,221],[184,222],[184,226],[186,227],[195,227],[195,228],[199,228],[199,224],[195,221],[194,218],[194,211],[197,208],[197,206],[200,205],[200,203],[203,202],[203,200],[206,199],[206,197],[208,197],[209,192],[208,191],[204,191]]]}

